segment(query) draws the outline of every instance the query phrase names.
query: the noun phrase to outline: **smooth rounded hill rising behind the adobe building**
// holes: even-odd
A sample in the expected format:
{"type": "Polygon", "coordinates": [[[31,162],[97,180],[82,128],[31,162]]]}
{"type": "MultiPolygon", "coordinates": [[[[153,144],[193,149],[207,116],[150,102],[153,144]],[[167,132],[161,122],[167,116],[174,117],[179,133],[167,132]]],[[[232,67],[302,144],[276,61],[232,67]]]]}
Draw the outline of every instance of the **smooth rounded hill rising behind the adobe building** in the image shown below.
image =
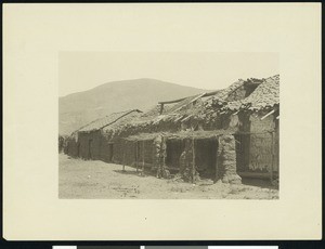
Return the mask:
{"type": "Polygon", "coordinates": [[[159,101],[194,95],[206,90],[155,79],[134,79],[104,83],[58,100],[58,132],[69,134],[105,115],[138,108],[147,110],[159,101]]]}

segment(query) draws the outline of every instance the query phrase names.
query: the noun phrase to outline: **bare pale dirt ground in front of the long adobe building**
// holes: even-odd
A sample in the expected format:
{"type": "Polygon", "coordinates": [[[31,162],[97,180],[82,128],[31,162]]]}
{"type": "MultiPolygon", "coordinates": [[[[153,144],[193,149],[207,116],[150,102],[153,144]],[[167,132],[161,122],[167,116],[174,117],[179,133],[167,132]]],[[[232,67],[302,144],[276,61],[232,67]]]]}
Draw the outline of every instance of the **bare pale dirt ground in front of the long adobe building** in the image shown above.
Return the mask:
{"type": "MultiPolygon", "coordinates": [[[[64,199],[277,199],[271,186],[196,184],[141,176],[134,168],[103,161],[73,159],[60,154],[58,197],[64,199]]],[[[244,181],[245,183],[245,181],[244,181]]],[[[261,185],[261,183],[258,183],[261,185]]]]}

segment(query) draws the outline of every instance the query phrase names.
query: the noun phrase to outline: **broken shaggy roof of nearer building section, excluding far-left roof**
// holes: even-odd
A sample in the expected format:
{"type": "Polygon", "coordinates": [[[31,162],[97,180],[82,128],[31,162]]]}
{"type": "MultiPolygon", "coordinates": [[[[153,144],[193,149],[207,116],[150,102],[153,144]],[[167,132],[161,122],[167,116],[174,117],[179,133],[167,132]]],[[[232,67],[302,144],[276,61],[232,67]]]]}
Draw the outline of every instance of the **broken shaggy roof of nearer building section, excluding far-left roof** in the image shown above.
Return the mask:
{"type": "Polygon", "coordinates": [[[169,123],[173,127],[172,130],[178,130],[180,124],[184,122],[195,123],[199,120],[204,120],[205,123],[214,122],[220,116],[220,113],[229,109],[237,110],[242,108],[244,103],[252,108],[262,108],[273,102],[276,103],[276,101],[278,103],[278,99],[276,100],[278,92],[276,84],[278,84],[278,76],[277,78],[275,76],[268,79],[239,79],[223,90],[181,99],[179,102],[169,102],[171,104],[160,102],[160,104],[164,103],[162,114],[160,114],[161,106],[158,104],[150,112],[131,119],[127,123],[110,126],[105,129],[105,131],[110,136],[118,136],[125,131],[131,133],[160,131],[159,127],[161,123],[169,123]],[[255,89],[255,91],[246,99],[243,99],[245,96],[240,96],[242,100],[236,100],[236,94],[233,94],[239,88],[246,86],[253,86],[252,89],[255,89]],[[272,94],[273,97],[271,96],[272,94]],[[195,105],[192,105],[194,102],[195,105]]]}

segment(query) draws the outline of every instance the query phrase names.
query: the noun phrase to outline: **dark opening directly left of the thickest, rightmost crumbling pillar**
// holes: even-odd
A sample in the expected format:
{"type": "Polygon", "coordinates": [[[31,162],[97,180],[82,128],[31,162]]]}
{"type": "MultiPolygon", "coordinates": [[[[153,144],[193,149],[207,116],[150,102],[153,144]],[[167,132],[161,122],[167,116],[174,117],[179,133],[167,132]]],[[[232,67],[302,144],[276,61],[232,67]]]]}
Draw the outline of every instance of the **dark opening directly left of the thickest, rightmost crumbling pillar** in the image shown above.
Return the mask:
{"type": "Polygon", "coordinates": [[[216,139],[195,140],[195,167],[202,179],[214,180],[217,150],[216,139]]]}

